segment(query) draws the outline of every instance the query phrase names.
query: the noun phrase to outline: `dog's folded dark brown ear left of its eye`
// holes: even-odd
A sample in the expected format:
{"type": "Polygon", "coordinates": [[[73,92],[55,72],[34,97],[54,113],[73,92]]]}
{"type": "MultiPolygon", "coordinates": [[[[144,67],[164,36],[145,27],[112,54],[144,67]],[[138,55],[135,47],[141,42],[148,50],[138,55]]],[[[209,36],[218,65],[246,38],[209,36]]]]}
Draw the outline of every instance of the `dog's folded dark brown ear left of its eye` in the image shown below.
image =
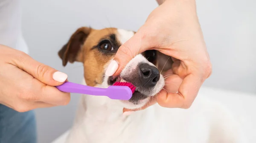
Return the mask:
{"type": "Polygon", "coordinates": [[[84,44],[87,36],[92,29],[88,27],[81,27],[70,37],[67,44],[65,44],[58,52],[58,56],[62,59],[62,65],[66,66],[67,62],[82,62],[81,46],[84,44]]]}

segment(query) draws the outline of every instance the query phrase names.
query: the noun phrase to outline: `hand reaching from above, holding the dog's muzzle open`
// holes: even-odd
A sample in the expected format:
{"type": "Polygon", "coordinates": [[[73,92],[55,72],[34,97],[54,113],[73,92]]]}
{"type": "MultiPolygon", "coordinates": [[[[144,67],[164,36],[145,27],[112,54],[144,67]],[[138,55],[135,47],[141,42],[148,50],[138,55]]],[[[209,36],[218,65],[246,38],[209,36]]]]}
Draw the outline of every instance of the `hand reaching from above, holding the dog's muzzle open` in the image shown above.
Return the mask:
{"type": "Polygon", "coordinates": [[[195,0],[166,0],[154,9],[137,33],[119,48],[106,75],[119,75],[123,68],[119,65],[131,60],[130,52],[136,56],[152,49],[171,56],[174,63],[166,72],[164,89],[143,109],[156,102],[162,107],[189,108],[212,72],[195,0]]]}

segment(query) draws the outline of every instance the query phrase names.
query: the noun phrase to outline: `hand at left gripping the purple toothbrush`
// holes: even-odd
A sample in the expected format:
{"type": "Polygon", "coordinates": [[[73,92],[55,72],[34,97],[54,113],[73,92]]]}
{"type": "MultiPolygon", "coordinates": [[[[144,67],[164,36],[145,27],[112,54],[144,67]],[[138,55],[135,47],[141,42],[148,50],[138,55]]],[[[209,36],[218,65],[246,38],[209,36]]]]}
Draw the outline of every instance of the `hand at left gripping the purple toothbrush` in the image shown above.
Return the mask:
{"type": "Polygon", "coordinates": [[[18,112],[67,105],[70,93],[55,86],[67,75],[35,61],[26,53],[0,45],[0,104],[18,112]]]}

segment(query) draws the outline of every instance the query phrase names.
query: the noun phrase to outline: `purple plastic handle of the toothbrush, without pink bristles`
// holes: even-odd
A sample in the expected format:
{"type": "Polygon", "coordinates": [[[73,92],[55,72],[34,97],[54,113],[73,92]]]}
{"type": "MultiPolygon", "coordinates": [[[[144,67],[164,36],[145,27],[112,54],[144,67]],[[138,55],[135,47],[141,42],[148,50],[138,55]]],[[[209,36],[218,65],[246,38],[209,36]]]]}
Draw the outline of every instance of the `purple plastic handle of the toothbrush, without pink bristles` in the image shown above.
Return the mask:
{"type": "Polygon", "coordinates": [[[58,90],[66,93],[80,93],[96,96],[108,96],[111,99],[129,100],[132,92],[127,86],[109,86],[108,88],[90,87],[72,82],[65,82],[56,86],[58,90]]]}

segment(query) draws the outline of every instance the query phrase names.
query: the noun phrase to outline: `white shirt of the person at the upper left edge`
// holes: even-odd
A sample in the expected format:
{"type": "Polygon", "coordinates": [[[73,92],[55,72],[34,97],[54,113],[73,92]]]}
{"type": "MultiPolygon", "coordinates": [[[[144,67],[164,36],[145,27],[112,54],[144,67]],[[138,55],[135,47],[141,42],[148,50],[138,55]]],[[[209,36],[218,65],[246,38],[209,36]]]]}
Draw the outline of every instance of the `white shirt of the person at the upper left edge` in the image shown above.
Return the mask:
{"type": "Polygon", "coordinates": [[[20,0],[0,0],[0,44],[28,53],[21,32],[20,0]]]}

